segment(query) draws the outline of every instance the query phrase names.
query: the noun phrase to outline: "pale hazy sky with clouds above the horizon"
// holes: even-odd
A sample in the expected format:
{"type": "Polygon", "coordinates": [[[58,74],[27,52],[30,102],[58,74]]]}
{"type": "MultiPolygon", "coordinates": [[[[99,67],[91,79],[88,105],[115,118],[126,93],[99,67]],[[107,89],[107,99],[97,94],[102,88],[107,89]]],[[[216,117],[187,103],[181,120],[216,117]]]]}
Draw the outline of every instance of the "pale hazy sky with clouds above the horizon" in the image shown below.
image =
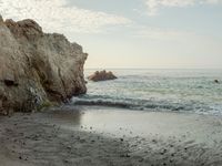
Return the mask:
{"type": "Polygon", "coordinates": [[[222,0],[0,0],[89,53],[93,69],[221,69],[222,0]]]}

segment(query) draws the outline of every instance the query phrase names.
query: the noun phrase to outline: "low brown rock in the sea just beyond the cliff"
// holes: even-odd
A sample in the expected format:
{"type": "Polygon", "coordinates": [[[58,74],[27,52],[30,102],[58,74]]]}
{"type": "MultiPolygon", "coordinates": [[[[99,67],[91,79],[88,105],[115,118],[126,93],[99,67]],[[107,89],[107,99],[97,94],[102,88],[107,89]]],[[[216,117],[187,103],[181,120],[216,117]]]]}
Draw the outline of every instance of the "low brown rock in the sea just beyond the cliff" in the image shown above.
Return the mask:
{"type": "Polygon", "coordinates": [[[90,81],[108,81],[108,80],[115,80],[118,79],[112,72],[107,71],[97,71],[92,75],[88,76],[90,81]]]}

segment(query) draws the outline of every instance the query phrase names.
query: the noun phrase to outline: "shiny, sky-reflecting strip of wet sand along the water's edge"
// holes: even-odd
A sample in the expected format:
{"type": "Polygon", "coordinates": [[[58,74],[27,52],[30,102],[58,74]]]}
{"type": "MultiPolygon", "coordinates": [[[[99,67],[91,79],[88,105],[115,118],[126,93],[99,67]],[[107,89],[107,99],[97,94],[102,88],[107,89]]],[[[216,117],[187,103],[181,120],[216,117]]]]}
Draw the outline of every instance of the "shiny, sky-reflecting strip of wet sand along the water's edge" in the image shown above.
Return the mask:
{"type": "Polygon", "coordinates": [[[47,112],[42,118],[65,128],[107,134],[114,137],[179,137],[213,144],[221,141],[222,122],[216,116],[138,112],[99,106],[64,106],[47,112]],[[212,123],[215,124],[212,124],[212,123]],[[213,128],[212,128],[213,125],[213,128]]]}

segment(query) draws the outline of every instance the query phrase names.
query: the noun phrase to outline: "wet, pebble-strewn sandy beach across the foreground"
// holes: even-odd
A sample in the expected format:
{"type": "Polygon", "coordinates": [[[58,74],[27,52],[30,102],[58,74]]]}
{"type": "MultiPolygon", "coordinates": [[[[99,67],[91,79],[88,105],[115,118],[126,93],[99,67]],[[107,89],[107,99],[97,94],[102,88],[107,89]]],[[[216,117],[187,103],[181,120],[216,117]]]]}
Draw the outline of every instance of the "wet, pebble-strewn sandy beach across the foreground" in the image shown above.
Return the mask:
{"type": "Polygon", "coordinates": [[[63,106],[0,117],[2,166],[222,165],[222,117],[63,106]]]}

